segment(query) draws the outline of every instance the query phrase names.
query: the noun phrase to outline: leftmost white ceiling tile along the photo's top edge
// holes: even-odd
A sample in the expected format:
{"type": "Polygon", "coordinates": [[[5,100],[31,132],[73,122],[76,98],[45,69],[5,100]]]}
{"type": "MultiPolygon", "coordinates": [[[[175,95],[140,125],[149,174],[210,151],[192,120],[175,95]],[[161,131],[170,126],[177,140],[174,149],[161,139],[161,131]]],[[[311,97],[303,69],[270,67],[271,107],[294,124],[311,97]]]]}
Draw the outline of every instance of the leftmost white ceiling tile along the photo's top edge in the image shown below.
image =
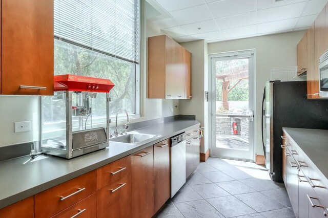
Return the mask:
{"type": "Polygon", "coordinates": [[[204,0],[156,0],[168,12],[205,4],[204,0]]]}

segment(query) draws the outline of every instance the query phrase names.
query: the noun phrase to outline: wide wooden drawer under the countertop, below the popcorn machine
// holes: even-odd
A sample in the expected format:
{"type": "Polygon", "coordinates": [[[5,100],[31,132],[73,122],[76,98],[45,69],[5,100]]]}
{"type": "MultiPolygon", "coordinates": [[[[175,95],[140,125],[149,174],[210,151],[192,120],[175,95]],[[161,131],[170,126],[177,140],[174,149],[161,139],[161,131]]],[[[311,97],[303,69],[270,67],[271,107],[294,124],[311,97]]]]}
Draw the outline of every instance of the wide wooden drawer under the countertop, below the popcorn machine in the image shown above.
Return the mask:
{"type": "Polygon", "coordinates": [[[50,217],[96,191],[96,171],[34,195],[35,217],[50,217]]]}

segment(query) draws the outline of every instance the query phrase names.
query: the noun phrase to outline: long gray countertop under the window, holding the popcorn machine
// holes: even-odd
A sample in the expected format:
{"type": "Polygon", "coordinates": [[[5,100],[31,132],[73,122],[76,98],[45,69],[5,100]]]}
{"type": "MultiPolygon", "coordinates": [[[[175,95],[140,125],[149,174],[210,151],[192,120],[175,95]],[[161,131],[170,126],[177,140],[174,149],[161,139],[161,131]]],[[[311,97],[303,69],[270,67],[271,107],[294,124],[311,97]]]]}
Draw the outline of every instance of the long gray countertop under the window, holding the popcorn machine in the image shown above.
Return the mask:
{"type": "Polygon", "coordinates": [[[40,155],[32,160],[21,157],[0,162],[0,208],[131,155],[195,125],[199,125],[196,120],[177,120],[135,129],[133,132],[160,136],[140,146],[110,142],[106,149],[70,160],[40,155]]]}

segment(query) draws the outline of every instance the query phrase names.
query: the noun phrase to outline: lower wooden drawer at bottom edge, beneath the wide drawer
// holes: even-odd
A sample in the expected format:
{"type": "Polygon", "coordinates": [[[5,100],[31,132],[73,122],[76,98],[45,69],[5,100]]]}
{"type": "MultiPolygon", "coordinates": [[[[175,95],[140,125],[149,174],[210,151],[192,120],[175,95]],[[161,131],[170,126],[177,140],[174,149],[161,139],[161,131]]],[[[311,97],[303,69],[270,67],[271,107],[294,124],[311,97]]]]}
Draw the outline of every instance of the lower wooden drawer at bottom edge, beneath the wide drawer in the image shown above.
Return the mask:
{"type": "Polygon", "coordinates": [[[96,217],[96,193],[77,202],[69,208],[57,213],[51,218],[94,218],[96,217]]]}

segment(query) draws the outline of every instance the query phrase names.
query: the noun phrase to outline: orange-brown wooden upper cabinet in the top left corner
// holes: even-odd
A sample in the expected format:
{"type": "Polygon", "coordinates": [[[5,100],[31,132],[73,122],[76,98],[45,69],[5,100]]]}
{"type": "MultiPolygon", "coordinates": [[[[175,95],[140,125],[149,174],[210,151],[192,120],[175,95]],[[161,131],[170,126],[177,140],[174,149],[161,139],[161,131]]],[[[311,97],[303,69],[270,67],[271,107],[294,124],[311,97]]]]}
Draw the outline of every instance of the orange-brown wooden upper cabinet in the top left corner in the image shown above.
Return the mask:
{"type": "Polygon", "coordinates": [[[1,94],[53,95],[53,0],[2,0],[1,7],[1,94]]]}

